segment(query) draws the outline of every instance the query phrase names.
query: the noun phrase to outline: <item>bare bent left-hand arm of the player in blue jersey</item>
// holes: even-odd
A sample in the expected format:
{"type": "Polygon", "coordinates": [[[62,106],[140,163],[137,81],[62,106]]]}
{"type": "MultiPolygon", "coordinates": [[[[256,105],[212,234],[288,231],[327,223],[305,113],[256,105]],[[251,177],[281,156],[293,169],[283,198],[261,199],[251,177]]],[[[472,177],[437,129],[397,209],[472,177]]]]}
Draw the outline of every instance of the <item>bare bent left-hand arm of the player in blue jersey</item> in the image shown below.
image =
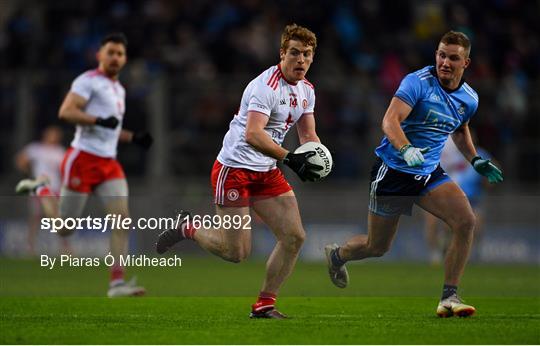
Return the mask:
{"type": "Polygon", "coordinates": [[[401,128],[401,123],[407,119],[412,108],[398,97],[393,97],[390,105],[384,114],[382,130],[390,143],[400,150],[407,144],[411,144],[401,128]]]}

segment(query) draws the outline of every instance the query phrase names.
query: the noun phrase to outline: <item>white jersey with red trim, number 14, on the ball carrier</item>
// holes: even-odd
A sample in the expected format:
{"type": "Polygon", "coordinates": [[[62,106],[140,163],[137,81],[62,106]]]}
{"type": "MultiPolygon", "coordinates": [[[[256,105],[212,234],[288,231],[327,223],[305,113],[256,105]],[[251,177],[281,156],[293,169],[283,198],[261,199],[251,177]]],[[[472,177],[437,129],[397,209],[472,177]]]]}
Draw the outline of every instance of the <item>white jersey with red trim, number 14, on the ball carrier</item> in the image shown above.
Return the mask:
{"type": "Polygon", "coordinates": [[[313,113],[315,90],[307,80],[291,84],[285,80],[280,65],[272,66],[252,80],[242,95],[238,114],[229,125],[223,147],[217,157],[225,166],[268,172],[276,160],[257,151],[246,142],[247,114],[255,111],[269,119],[264,130],[281,145],[289,129],[303,114],[313,113]]]}

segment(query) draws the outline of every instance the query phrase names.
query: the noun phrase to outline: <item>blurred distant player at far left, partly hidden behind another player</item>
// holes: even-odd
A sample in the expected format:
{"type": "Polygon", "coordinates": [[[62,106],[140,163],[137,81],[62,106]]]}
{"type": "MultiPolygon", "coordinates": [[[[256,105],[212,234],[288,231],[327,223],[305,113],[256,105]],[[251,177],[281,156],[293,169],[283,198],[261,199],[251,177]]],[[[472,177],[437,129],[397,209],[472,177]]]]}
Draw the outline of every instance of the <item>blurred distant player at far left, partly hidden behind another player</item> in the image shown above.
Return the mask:
{"type": "MultiPolygon", "coordinates": [[[[58,215],[58,201],[60,195],[60,164],[66,152],[62,146],[62,130],[58,126],[49,126],[43,130],[41,140],[26,145],[15,157],[17,169],[31,176],[31,179],[22,180],[19,185],[24,186],[39,178],[48,181],[48,186],[41,186],[36,195],[38,198],[29,200],[29,228],[28,249],[35,255],[35,244],[39,230],[42,213],[45,215],[58,215]],[[42,210],[43,209],[43,210],[42,210]]],[[[16,190],[19,190],[17,187],[16,190]]],[[[67,239],[62,238],[62,252],[69,252],[67,239]]]]}

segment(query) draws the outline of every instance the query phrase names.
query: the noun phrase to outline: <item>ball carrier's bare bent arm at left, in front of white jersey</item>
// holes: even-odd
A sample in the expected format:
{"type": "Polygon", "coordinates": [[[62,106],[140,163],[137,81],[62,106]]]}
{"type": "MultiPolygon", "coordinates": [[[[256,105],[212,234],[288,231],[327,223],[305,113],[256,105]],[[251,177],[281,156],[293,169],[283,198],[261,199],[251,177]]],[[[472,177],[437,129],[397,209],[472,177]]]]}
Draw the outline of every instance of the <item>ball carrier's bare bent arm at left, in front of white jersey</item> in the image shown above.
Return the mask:
{"type": "Polygon", "coordinates": [[[276,160],[283,160],[288,151],[274,143],[272,138],[264,131],[268,123],[268,116],[259,112],[248,112],[246,125],[246,142],[261,153],[273,157],[276,160]]]}

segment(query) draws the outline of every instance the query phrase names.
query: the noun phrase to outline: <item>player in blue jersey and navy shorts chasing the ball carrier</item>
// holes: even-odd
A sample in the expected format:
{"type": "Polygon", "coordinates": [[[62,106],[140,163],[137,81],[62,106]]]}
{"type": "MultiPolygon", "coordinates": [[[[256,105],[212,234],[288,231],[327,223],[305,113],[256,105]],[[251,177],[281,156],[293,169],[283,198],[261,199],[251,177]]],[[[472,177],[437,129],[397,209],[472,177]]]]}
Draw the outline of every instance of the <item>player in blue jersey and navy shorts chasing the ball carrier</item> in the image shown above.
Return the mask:
{"type": "Polygon", "coordinates": [[[450,31],[440,40],[435,66],[410,73],[401,82],[382,121],[385,134],[375,150],[371,172],[368,234],[345,245],[325,248],[329,274],[338,287],[348,283],[345,263],[384,255],[392,244],[401,214],[413,204],[448,224],[452,239],[445,260],[441,317],[469,316],[475,308],[464,304],[458,284],[473,241],[475,217],[463,191],[440,167],[440,155],[449,135],[474,169],[490,183],[503,180],[502,172],[478,155],[469,132],[469,120],[478,108],[477,93],[463,80],[469,66],[470,41],[450,31]]]}

